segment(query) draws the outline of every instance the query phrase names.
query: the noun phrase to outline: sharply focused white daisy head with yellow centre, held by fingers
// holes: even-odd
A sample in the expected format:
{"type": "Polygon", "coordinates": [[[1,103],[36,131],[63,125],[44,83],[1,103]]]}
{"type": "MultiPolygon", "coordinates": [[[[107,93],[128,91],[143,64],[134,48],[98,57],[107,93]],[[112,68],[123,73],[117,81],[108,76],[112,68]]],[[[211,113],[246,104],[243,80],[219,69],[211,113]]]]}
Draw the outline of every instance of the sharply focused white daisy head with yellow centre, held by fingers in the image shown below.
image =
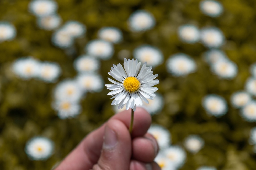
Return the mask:
{"type": "Polygon", "coordinates": [[[159,80],[154,80],[158,74],[153,75],[151,71],[152,66],[147,67],[147,63],[144,63],[140,69],[141,62],[138,60],[124,59],[124,68],[119,63],[113,65],[109,72],[116,82],[110,78],[114,84],[106,84],[107,89],[112,90],[108,93],[113,99],[112,105],[118,105],[118,108],[123,108],[126,105],[126,110],[129,108],[136,110],[136,106],[141,106],[147,99],[154,99],[156,96],[154,92],[158,90],[156,87],[152,87],[159,83],[159,80]]]}

